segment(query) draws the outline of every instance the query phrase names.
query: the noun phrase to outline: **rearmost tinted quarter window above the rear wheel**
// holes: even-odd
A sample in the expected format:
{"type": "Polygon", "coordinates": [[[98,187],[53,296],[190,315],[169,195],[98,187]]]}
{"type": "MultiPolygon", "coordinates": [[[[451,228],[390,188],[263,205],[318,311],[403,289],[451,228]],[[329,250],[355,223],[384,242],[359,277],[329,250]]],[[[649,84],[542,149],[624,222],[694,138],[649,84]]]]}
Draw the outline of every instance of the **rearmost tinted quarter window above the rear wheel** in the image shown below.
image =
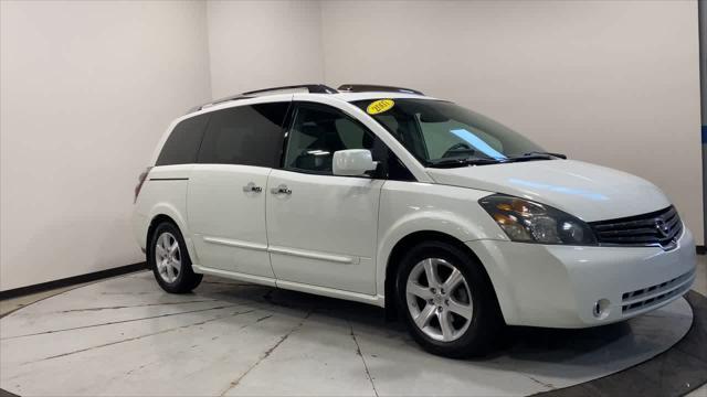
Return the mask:
{"type": "Polygon", "coordinates": [[[197,153],[208,121],[209,115],[200,115],[178,124],[165,142],[155,165],[197,162],[197,153]]]}

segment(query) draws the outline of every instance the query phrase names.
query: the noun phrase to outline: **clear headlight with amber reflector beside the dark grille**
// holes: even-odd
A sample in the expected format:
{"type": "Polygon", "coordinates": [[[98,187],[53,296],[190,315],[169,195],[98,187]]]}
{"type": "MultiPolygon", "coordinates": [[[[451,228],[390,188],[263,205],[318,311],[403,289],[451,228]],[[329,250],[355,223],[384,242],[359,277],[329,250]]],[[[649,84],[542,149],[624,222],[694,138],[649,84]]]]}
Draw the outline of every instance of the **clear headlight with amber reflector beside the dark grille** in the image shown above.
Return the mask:
{"type": "Polygon", "coordinates": [[[478,203],[514,242],[597,244],[587,223],[549,205],[504,194],[484,197],[478,203]]]}

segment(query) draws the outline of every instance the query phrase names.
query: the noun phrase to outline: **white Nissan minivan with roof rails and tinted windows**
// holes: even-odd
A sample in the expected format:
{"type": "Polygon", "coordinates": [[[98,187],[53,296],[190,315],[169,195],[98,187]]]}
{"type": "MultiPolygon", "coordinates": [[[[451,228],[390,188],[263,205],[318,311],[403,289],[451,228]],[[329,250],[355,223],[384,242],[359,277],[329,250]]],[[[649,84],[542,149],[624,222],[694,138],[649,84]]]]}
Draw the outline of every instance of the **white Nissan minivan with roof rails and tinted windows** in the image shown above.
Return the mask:
{"type": "Polygon", "coordinates": [[[226,277],[386,308],[425,350],[588,328],[682,297],[693,235],[650,182],[397,87],[244,93],[169,127],[135,191],[157,282],[226,277]]]}

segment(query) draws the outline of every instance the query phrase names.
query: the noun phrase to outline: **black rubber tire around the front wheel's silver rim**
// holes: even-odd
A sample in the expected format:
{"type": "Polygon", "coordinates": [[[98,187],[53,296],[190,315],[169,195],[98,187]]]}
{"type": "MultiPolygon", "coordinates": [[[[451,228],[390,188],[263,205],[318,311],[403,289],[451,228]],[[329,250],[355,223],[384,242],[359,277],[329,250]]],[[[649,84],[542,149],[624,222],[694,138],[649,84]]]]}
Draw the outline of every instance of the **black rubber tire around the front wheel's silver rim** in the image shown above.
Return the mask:
{"type": "MultiPolygon", "coordinates": [[[[413,247],[401,260],[395,279],[395,298],[408,331],[425,351],[451,358],[478,356],[487,353],[504,325],[493,286],[476,258],[455,245],[425,242],[413,247]],[[466,331],[451,342],[435,340],[414,322],[408,305],[405,286],[411,271],[424,259],[440,258],[457,268],[471,290],[473,314],[466,331]]],[[[434,321],[434,320],[433,320],[434,321]]]]}

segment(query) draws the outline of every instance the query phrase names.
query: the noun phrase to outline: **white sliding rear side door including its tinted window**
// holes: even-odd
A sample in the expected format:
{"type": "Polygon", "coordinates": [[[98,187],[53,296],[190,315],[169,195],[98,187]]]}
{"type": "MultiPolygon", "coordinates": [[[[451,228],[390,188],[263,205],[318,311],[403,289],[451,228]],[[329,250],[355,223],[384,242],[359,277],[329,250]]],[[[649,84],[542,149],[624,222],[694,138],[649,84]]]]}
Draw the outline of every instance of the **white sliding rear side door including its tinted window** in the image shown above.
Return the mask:
{"type": "Polygon", "coordinates": [[[265,230],[265,187],[279,162],[289,101],[211,114],[187,196],[198,265],[273,278],[265,230]]]}

